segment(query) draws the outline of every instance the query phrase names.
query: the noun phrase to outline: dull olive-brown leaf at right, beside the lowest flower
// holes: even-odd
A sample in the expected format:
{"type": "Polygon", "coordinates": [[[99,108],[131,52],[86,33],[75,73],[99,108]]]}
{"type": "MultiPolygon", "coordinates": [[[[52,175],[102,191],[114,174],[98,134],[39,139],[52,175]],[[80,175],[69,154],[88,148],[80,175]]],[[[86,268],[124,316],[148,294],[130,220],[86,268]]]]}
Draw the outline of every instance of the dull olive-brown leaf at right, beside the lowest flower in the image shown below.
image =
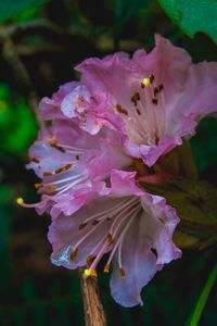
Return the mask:
{"type": "Polygon", "coordinates": [[[144,184],[146,190],[166,198],[180,223],[174,240],[180,248],[207,248],[217,242],[217,188],[192,179],[175,179],[165,186],[144,184]]]}

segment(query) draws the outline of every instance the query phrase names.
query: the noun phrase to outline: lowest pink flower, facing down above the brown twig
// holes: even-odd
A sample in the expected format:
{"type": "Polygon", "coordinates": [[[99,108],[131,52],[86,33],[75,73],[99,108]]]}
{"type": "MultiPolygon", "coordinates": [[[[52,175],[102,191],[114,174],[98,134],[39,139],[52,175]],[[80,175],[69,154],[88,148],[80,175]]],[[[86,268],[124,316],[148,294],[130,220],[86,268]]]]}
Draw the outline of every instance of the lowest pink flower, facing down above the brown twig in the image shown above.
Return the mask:
{"type": "Polygon", "coordinates": [[[141,289],[163,265],[180,258],[173,243],[179,221],[164,198],[138,188],[135,172],[112,171],[110,193],[93,195],[71,216],[53,221],[49,240],[51,261],[67,268],[89,265],[86,275],[97,275],[95,267],[105,253],[107,273],[113,267],[111,292],[124,306],[142,304],[141,289]]]}

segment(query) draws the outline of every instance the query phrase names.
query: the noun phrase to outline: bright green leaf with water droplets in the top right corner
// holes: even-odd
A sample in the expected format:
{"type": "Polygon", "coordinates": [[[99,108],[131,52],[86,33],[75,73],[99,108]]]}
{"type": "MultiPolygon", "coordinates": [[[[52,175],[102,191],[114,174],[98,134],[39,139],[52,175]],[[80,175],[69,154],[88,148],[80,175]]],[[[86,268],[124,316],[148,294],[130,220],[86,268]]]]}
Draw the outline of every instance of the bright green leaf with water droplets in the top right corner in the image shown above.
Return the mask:
{"type": "Polygon", "coordinates": [[[183,33],[193,37],[202,32],[217,42],[216,0],[158,0],[166,14],[183,33]]]}

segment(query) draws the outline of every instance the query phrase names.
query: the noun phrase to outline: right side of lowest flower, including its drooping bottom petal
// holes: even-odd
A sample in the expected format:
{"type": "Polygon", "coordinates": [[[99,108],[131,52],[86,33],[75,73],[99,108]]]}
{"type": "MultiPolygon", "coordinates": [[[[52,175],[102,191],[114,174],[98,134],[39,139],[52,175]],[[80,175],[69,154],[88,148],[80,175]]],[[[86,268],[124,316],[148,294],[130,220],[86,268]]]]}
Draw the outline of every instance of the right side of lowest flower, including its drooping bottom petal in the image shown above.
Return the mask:
{"type": "Polygon", "coordinates": [[[175,211],[157,196],[145,195],[141,201],[143,211],[133,220],[123,242],[122,266],[126,277],[120,277],[116,255],[111,279],[112,296],[124,306],[142,304],[142,288],[163,264],[180,256],[171,239],[178,223],[175,211]]]}

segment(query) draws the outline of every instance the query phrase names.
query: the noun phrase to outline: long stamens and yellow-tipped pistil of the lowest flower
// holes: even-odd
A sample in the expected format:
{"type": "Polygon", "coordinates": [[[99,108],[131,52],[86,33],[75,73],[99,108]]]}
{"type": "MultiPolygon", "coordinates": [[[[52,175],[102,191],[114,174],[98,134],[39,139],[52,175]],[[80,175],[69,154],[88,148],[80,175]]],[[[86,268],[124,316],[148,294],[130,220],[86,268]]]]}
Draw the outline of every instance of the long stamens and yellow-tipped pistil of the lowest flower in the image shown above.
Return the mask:
{"type": "Polygon", "coordinates": [[[79,229],[85,228],[87,225],[91,225],[89,231],[87,231],[78,241],[74,244],[71,253],[71,260],[74,261],[78,255],[79,246],[84,243],[89,237],[92,237],[94,233],[98,233],[102,224],[108,223],[104,233],[98,243],[92,248],[88,254],[86,262],[88,268],[85,269],[86,276],[97,276],[95,267],[104,253],[111,251],[108,260],[104,266],[104,272],[108,273],[111,262],[114,254],[117,254],[118,266],[120,276],[125,277],[126,273],[122,263],[122,248],[126,238],[127,230],[129,229],[135,217],[141,210],[140,199],[136,197],[125,197],[122,200],[118,199],[112,208],[103,210],[97,214],[92,214],[86,218],[82,224],[79,225],[79,229]]]}

